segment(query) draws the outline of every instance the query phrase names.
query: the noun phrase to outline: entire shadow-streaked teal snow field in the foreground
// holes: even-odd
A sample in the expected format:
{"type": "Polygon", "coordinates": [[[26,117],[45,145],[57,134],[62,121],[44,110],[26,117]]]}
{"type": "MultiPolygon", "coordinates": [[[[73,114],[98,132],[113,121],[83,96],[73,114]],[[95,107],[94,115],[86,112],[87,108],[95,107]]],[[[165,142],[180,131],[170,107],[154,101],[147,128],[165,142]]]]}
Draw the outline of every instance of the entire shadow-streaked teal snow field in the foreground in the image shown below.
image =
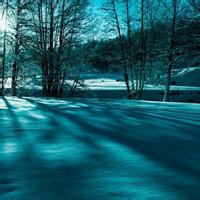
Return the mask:
{"type": "Polygon", "coordinates": [[[200,105],[0,99],[0,199],[200,199],[200,105]]]}

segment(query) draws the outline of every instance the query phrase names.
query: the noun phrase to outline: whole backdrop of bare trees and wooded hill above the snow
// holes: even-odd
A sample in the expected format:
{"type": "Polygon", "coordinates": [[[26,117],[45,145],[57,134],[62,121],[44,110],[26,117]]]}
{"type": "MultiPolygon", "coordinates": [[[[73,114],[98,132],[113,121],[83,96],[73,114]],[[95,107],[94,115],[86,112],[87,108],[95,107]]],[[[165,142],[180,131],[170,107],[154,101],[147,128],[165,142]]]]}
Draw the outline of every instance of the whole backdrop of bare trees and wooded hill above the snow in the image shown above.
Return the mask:
{"type": "Polygon", "coordinates": [[[173,72],[199,67],[198,1],[94,4],[2,1],[1,94],[74,96],[84,88],[81,74],[100,72],[121,75],[129,99],[143,99],[152,84],[169,101],[173,72]]]}

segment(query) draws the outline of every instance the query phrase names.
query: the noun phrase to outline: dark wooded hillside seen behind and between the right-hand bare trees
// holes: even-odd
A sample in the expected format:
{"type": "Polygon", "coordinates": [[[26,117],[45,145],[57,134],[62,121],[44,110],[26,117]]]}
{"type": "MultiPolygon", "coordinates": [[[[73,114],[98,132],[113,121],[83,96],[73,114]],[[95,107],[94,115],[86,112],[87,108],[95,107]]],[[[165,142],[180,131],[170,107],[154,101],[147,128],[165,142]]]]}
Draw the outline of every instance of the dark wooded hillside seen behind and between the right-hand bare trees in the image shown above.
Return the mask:
{"type": "MultiPolygon", "coordinates": [[[[200,21],[197,19],[180,21],[179,30],[177,30],[177,39],[175,46],[178,49],[176,56],[181,56],[181,59],[176,63],[175,69],[197,67],[199,66],[199,27],[200,21]],[[195,59],[194,59],[195,58],[195,59]]],[[[166,52],[168,50],[168,31],[169,24],[157,23],[153,29],[148,29],[149,40],[147,42],[147,49],[149,49],[147,78],[152,75],[164,75],[167,64],[166,52]]],[[[139,31],[132,32],[132,53],[135,62],[139,59],[139,31]]],[[[128,54],[128,38],[123,35],[123,44],[128,54]]],[[[76,50],[75,50],[76,51],[76,50]]],[[[120,72],[120,61],[122,60],[119,52],[119,38],[108,40],[91,40],[82,45],[82,51],[86,56],[86,65],[89,65],[94,70],[101,73],[120,72]]]]}

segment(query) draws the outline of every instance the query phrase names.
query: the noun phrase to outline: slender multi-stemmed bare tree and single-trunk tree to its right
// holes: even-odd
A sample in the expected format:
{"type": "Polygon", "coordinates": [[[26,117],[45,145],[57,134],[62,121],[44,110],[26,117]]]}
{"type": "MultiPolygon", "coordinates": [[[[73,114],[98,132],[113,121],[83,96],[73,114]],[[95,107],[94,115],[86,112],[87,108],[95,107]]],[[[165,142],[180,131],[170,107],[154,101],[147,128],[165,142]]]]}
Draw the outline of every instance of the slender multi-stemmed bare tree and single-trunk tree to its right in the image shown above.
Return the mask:
{"type": "Polygon", "coordinates": [[[128,97],[141,98],[147,70],[152,70],[153,57],[156,55],[156,62],[161,59],[160,64],[165,69],[163,100],[169,101],[172,70],[184,63],[190,48],[198,53],[198,47],[194,49],[194,43],[191,43],[191,40],[195,39],[198,46],[198,1],[107,0],[103,9],[110,16],[113,30],[118,37],[120,66],[123,69],[128,97]],[[121,4],[120,10],[118,4],[121,4]],[[133,24],[135,29],[132,28],[133,24]],[[156,41],[159,35],[155,34],[155,30],[160,28],[160,25],[164,25],[164,33],[167,34],[164,34],[166,38],[156,41]],[[138,32],[136,37],[134,32],[138,32]],[[126,43],[123,35],[126,37],[126,43]],[[163,44],[167,48],[160,48],[163,44]]]}

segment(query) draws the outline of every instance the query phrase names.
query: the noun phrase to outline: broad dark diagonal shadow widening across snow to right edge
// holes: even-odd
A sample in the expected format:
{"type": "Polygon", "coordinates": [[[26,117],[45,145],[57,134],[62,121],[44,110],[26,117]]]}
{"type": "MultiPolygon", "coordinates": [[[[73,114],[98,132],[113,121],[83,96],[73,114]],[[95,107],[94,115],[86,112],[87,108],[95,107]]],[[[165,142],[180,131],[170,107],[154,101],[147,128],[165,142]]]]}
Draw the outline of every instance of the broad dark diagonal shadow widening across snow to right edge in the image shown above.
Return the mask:
{"type": "MultiPolygon", "coordinates": [[[[82,128],[83,131],[86,133],[98,137],[105,137],[113,142],[122,144],[133,151],[137,150],[142,155],[145,155],[149,159],[159,163],[160,165],[167,167],[173,171],[176,171],[178,173],[182,173],[185,176],[188,176],[192,178],[196,183],[200,184],[200,168],[199,168],[199,155],[200,155],[200,141],[199,141],[199,134],[197,134],[197,131],[193,131],[194,134],[192,135],[192,138],[182,138],[181,135],[179,136],[168,136],[168,130],[165,130],[163,133],[162,129],[157,129],[156,125],[153,124],[152,126],[149,125],[142,125],[142,126],[135,126],[131,123],[128,127],[124,127],[123,124],[120,125],[112,125],[110,124],[109,128],[101,128],[100,126],[96,126],[95,123],[92,123],[91,121],[87,121],[84,116],[81,117],[78,114],[72,114],[68,112],[59,111],[56,108],[51,108],[50,105],[45,105],[43,103],[29,100],[32,103],[35,103],[39,106],[40,109],[54,112],[57,115],[61,115],[64,118],[70,119],[74,121],[79,127],[82,128]],[[132,134],[130,134],[130,130],[134,130],[132,134]],[[157,130],[158,135],[149,133],[149,130],[157,130]],[[178,154],[178,155],[177,155],[178,154]],[[186,159],[184,159],[186,158],[186,159]],[[188,158],[191,158],[189,160],[188,158]]],[[[104,111],[104,114],[106,118],[108,118],[110,121],[115,120],[115,116],[112,113],[109,113],[108,116],[108,109],[113,108],[107,108],[106,106],[102,106],[102,109],[104,111]],[[112,114],[112,115],[111,115],[112,114]]],[[[130,109],[130,108],[129,108],[130,109]]],[[[86,108],[87,112],[90,113],[90,108],[86,108]]],[[[136,114],[136,110],[133,110],[131,112],[131,115],[136,114]]],[[[128,110],[127,110],[128,112],[128,110]]],[[[90,115],[95,116],[94,111],[90,113],[90,115]]],[[[138,113],[138,116],[141,120],[143,119],[144,122],[147,121],[147,114],[146,113],[138,113]],[[141,116],[142,115],[142,116],[141,116]],[[139,117],[140,116],[140,117],[139,117]]],[[[121,116],[122,118],[124,116],[121,116]]],[[[159,116],[157,116],[159,118],[159,116]]],[[[161,117],[161,116],[160,116],[161,117]]],[[[149,119],[149,118],[148,118],[149,119]]],[[[166,118],[167,119],[167,118],[166,118]]],[[[174,119],[174,118],[172,118],[174,119]]],[[[177,121],[177,123],[180,123],[180,120],[177,121]]],[[[178,126],[179,127],[179,126],[178,126]]],[[[183,128],[176,127],[179,133],[183,132],[183,128]]],[[[190,128],[188,128],[190,130],[190,128]]],[[[191,129],[192,130],[192,129],[191,129]]],[[[183,136],[186,134],[190,135],[190,133],[185,132],[183,136]]],[[[98,140],[97,137],[97,140],[98,140]]],[[[186,181],[187,182],[187,181],[186,181]]],[[[193,185],[180,183],[182,187],[184,188],[190,188],[192,189],[193,185]]],[[[171,185],[171,187],[174,187],[174,184],[171,185]]],[[[198,191],[189,193],[189,190],[182,190],[180,191],[182,193],[185,193],[185,196],[187,197],[199,197],[200,194],[198,191]]]]}

